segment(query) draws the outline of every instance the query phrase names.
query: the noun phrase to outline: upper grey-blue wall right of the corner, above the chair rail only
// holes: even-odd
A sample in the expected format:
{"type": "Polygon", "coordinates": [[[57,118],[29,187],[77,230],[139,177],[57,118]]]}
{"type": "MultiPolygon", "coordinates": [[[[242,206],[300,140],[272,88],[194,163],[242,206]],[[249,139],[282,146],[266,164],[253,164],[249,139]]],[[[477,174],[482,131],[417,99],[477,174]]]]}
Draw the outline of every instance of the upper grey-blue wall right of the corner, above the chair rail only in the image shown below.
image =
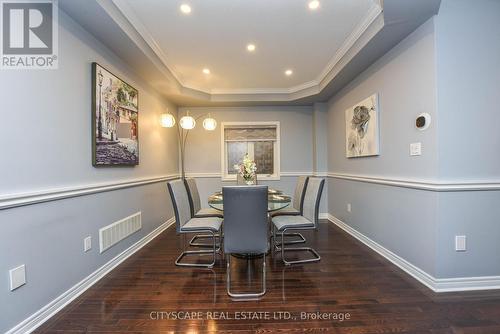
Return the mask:
{"type": "Polygon", "coordinates": [[[500,1],[446,0],[436,20],[439,175],[500,179],[500,1]]]}

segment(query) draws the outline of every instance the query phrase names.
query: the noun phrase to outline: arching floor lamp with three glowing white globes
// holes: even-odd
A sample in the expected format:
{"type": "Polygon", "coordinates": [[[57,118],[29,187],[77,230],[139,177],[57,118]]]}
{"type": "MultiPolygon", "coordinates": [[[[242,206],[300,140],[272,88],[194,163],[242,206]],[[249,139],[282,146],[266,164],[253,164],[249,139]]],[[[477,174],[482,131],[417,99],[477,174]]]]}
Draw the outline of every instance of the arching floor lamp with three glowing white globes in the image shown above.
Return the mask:
{"type": "Polygon", "coordinates": [[[179,150],[181,152],[181,177],[186,178],[186,173],[184,172],[184,154],[186,152],[186,142],[188,139],[189,131],[194,129],[196,126],[196,121],[200,118],[207,116],[203,120],[203,128],[207,131],[213,131],[217,128],[217,121],[213,119],[209,114],[200,115],[196,118],[189,115],[189,110],[186,111],[186,115],[182,116],[177,123],[174,115],[168,113],[161,114],[160,124],[164,128],[173,128],[177,124],[177,136],[179,139],[179,150]]]}

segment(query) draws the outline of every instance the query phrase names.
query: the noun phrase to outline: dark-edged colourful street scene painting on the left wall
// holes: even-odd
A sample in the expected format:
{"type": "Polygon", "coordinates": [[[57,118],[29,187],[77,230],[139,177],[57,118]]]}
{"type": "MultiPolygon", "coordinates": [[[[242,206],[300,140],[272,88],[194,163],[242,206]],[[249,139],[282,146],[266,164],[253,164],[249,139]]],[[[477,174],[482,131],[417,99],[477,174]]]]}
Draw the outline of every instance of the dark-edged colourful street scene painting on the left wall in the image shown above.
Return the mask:
{"type": "Polygon", "coordinates": [[[92,63],[92,164],[139,164],[139,92],[92,63]]]}

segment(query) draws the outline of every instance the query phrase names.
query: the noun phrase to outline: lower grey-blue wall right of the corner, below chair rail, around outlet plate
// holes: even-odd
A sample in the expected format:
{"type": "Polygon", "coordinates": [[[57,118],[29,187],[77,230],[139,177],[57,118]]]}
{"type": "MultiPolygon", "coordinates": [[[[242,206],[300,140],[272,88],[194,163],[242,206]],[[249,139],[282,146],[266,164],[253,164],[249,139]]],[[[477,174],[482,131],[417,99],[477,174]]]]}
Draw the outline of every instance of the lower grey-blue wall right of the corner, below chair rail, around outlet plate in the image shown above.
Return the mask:
{"type": "Polygon", "coordinates": [[[437,277],[500,276],[499,203],[499,191],[439,194],[437,277]],[[455,235],[467,236],[466,252],[455,235]]]}

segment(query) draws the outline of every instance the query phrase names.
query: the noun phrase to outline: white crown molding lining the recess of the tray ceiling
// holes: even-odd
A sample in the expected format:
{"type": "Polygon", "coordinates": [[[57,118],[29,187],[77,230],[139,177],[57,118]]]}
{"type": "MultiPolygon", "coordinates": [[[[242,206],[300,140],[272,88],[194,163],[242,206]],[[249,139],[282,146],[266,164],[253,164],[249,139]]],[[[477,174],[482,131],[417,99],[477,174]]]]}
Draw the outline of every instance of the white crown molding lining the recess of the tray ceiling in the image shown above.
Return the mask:
{"type": "MultiPolygon", "coordinates": [[[[127,4],[126,0],[112,0],[114,9],[111,9],[109,3],[98,0],[98,3],[106,10],[108,15],[117,22],[125,33],[131,37],[134,43],[146,54],[154,54],[162,63],[162,67],[168,69],[168,72],[175,78],[180,87],[180,91],[184,94],[194,94],[196,98],[201,98],[210,101],[240,101],[240,100],[276,100],[276,101],[292,101],[297,98],[316,95],[331,81],[344,65],[340,66],[339,63],[343,58],[350,53],[350,51],[357,44],[365,45],[367,34],[365,32],[370,30],[370,27],[376,22],[377,18],[382,18],[383,9],[377,1],[373,2],[372,7],[366,13],[364,18],[356,25],[351,34],[346,38],[341,47],[333,55],[330,61],[326,64],[325,68],[313,80],[304,82],[300,85],[283,88],[240,88],[240,89],[204,89],[195,85],[186,84],[181,75],[176,70],[175,66],[168,60],[159,43],[154,39],[152,34],[148,31],[141,20],[135,15],[132,8],[127,4]],[[117,12],[119,11],[119,13],[117,12]],[[123,20],[128,24],[124,24],[123,20]],[[140,36],[141,41],[137,40],[140,36]],[[334,75],[332,75],[334,74],[334,75]],[[329,80],[327,80],[330,77],[329,80]],[[328,82],[326,82],[328,81],[328,82]]],[[[379,22],[383,23],[383,19],[379,22]]],[[[376,26],[376,32],[383,28],[383,24],[376,26]]],[[[370,38],[373,34],[369,34],[370,38]]],[[[358,50],[359,51],[359,50],[358,50]]],[[[357,52],[352,52],[354,56],[357,52]]],[[[151,56],[149,58],[152,58],[151,56]]]]}

